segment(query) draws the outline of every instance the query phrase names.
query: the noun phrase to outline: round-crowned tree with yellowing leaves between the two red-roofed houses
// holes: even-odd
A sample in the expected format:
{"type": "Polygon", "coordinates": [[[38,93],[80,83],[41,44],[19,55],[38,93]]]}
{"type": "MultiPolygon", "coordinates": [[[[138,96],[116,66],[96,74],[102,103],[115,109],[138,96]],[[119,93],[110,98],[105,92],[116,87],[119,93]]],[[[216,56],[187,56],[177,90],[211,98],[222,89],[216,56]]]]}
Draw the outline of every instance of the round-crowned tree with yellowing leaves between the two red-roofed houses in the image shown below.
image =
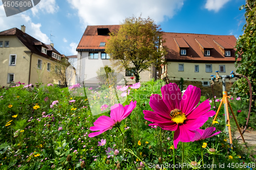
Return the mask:
{"type": "Polygon", "coordinates": [[[110,33],[105,52],[110,54],[113,65],[119,69],[133,67],[136,82],[139,74],[152,64],[157,68],[163,64],[166,51],[161,46],[162,31],[150,17],[129,17],[124,20],[117,32],[110,33]]]}

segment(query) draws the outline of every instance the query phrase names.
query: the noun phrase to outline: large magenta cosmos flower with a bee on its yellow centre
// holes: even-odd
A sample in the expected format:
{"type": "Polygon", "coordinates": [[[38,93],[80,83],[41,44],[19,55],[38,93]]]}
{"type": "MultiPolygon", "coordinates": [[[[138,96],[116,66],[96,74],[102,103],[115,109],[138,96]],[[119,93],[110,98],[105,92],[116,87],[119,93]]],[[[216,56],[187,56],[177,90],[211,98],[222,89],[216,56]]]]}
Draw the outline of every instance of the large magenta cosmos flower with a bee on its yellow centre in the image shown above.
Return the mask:
{"type": "Polygon", "coordinates": [[[148,126],[159,126],[163,130],[175,131],[174,147],[178,142],[189,142],[194,136],[194,130],[199,129],[208,120],[208,117],[215,115],[210,110],[209,101],[206,100],[198,107],[201,90],[189,85],[183,94],[179,86],[170,83],[161,88],[162,97],[159,94],[152,94],[150,106],[154,111],[144,110],[144,118],[154,122],[148,126]]]}

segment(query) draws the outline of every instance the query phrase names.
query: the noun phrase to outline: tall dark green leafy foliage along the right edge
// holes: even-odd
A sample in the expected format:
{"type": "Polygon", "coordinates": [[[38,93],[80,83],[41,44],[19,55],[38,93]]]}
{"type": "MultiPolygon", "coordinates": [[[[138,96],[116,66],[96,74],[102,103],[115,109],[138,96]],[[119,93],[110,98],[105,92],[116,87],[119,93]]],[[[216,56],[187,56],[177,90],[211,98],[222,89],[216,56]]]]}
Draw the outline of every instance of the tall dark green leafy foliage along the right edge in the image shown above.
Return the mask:
{"type": "MultiPolygon", "coordinates": [[[[254,0],[246,1],[245,8],[245,20],[246,23],[243,27],[244,34],[239,37],[235,48],[236,60],[241,56],[241,61],[236,61],[236,67],[239,74],[242,74],[251,82],[252,91],[256,90],[256,2],[254,0]]],[[[249,87],[245,79],[239,79],[234,83],[233,90],[237,92],[243,99],[249,98],[249,87]]],[[[255,101],[255,93],[252,94],[252,98],[255,101]]]]}

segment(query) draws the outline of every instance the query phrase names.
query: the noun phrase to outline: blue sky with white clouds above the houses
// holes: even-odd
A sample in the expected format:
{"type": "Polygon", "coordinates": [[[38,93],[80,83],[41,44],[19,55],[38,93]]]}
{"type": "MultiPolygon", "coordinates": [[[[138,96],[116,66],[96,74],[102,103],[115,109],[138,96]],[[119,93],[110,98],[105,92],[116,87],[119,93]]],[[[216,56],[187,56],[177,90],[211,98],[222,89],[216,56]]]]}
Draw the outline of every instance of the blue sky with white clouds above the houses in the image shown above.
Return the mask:
{"type": "Polygon", "coordinates": [[[164,32],[243,34],[245,0],[41,0],[35,7],[6,17],[0,2],[0,31],[26,26],[26,33],[66,56],[75,51],[88,25],[118,25],[125,17],[150,16],[164,32]],[[51,34],[53,36],[51,36],[51,34]]]}

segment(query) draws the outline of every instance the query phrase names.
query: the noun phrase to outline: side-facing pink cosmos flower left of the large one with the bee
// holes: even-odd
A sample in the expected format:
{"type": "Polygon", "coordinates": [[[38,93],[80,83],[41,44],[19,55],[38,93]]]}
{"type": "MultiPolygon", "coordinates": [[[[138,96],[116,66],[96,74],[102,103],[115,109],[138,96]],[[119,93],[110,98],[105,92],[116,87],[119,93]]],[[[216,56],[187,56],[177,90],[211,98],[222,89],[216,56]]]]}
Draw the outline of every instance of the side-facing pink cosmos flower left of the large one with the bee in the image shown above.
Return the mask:
{"type": "Polygon", "coordinates": [[[89,137],[97,136],[109,129],[112,129],[115,125],[120,124],[120,122],[125,119],[133,109],[136,107],[136,101],[131,101],[130,105],[115,104],[111,106],[110,117],[100,116],[93,124],[94,126],[90,128],[91,131],[99,131],[90,133],[89,137]]]}

